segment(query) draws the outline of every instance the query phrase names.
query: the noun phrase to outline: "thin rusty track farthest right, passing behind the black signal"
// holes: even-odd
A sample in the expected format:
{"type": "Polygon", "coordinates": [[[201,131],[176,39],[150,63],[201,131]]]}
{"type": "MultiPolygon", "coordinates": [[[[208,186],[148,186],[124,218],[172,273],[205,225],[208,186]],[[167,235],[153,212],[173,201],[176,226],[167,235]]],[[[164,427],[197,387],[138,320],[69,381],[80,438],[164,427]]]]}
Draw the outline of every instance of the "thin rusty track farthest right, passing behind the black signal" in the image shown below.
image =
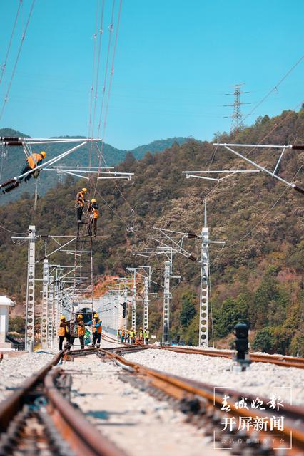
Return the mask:
{"type": "MultiPolygon", "coordinates": [[[[111,336],[103,335],[103,339],[110,343],[118,343],[111,336]]],[[[124,344],[128,345],[128,344],[124,344]]],[[[223,351],[216,349],[204,350],[203,348],[183,348],[177,346],[165,347],[165,346],[145,346],[156,350],[169,350],[175,351],[176,353],[186,353],[192,355],[204,355],[204,356],[216,356],[221,358],[232,358],[233,350],[223,351]]],[[[271,363],[276,366],[282,366],[286,368],[299,368],[304,369],[304,358],[296,358],[295,356],[283,356],[283,355],[268,355],[267,353],[250,353],[250,360],[254,363],[271,363]]]]}

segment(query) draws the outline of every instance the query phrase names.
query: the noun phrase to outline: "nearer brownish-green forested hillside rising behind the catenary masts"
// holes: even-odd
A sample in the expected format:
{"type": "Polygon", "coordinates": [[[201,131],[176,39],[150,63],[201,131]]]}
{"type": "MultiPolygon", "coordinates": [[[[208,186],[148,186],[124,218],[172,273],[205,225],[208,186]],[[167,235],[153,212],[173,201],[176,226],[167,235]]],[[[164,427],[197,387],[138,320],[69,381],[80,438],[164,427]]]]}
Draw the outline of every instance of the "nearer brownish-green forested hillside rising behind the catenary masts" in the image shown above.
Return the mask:
{"type": "MultiPolygon", "coordinates": [[[[238,135],[217,135],[223,142],[288,144],[304,142],[304,109],[285,111],[275,118],[258,118],[238,135]]],[[[304,356],[304,198],[263,173],[233,175],[215,184],[186,179],[183,170],[246,167],[229,152],[209,142],[188,140],[174,143],[166,151],[135,160],[127,155],[118,170],[132,168],[131,182],[101,182],[96,199],[101,204],[100,234],[105,242],[94,242],[96,274],[125,275],[128,266],[141,264],[130,251],[152,245],[146,236],[153,227],[181,232],[201,231],[203,200],[208,202],[210,238],[225,240],[226,246],[211,246],[212,308],[214,336],[229,346],[230,334],[238,321],[248,321],[253,330],[253,347],[277,353],[304,356]]],[[[260,164],[274,168],[280,152],[248,150],[260,164]]],[[[304,152],[287,150],[280,165],[286,180],[304,182],[304,152]]],[[[39,177],[44,179],[44,175],[39,177]]],[[[39,199],[24,193],[18,202],[0,208],[1,225],[14,232],[26,232],[36,224],[39,234],[69,234],[76,230],[74,198],[81,183],[69,178],[39,199]]],[[[25,186],[24,186],[25,187],[25,186]]],[[[91,186],[93,187],[93,185],[91,186]]],[[[26,190],[26,187],[25,187],[26,190]]],[[[4,196],[5,198],[5,196],[4,196]]],[[[1,289],[21,302],[25,294],[26,244],[13,245],[11,233],[0,229],[1,289]]],[[[192,239],[185,244],[198,255],[200,246],[192,239]]],[[[43,246],[41,245],[41,251],[43,246]]],[[[151,264],[163,267],[158,257],[151,264]]],[[[64,253],[54,262],[66,264],[64,253]]],[[[180,334],[187,343],[198,341],[198,285],[200,268],[175,255],[171,281],[171,337],[180,334]]],[[[162,271],[154,280],[161,285],[162,271]]],[[[97,275],[96,275],[97,277],[97,275]]],[[[162,290],[151,301],[152,333],[161,331],[162,290]]],[[[138,321],[142,314],[138,302],[138,321]]]]}

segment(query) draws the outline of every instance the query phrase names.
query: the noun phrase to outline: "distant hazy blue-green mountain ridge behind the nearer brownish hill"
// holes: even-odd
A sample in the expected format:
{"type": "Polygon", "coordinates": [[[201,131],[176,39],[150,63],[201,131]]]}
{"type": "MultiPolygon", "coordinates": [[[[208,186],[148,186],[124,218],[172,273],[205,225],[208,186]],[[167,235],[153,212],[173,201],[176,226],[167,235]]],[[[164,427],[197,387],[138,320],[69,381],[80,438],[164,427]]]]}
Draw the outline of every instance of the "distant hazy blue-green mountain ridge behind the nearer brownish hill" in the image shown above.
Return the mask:
{"type": "MultiPolygon", "coordinates": [[[[0,136],[16,136],[18,138],[29,138],[29,135],[25,135],[16,130],[12,130],[11,128],[0,128],[0,136]]],[[[63,138],[63,137],[61,137],[63,138]]],[[[69,138],[66,136],[64,138],[69,138]]],[[[71,137],[70,137],[71,138],[71,137]]],[[[81,136],[74,136],[74,138],[83,138],[81,136]]],[[[173,142],[178,142],[178,144],[183,144],[186,142],[188,138],[168,138],[166,140],[157,140],[150,142],[150,144],[141,145],[136,147],[133,150],[120,150],[116,149],[116,147],[112,147],[109,144],[103,144],[103,158],[104,162],[101,164],[102,166],[108,165],[118,165],[118,163],[123,162],[126,158],[126,154],[131,152],[134,157],[137,159],[141,159],[146,152],[151,152],[152,154],[156,152],[161,152],[165,150],[167,147],[170,147],[173,142]]],[[[41,150],[45,150],[46,152],[46,160],[49,160],[56,155],[59,155],[62,152],[65,152],[71,147],[74,147],[75,144],[51,144],[51,145],[39,145],[37,146],[37,150],[33,148],[33,152],[40,152],[41,150]]],[[[34,147],[34,146],[32,146],[34,147]]],[[[66,157],[66,159],[61,160],[61,162],[56,163],[56,165],[83,165],[88,166],[89,164],[89,154],[91,150],[91,145],[86,145],[85,147],[81,147],[79,150],[73,152],[73,154],[66,157]]],[[[92,166],[98,166],[99,159],[96,147],[93,147],[91,150],[91,157],[92,157],[92,166]]],[[[0,182],[5,182],[6,180],[11,179],[16,175],[19,175],[21,171],[26,157],[21,147],[1,147],[0,145],[0,182]]],[[[31,180],[27,183],[27,190],[29,193],[34,193],[36,185],[39,195],[44,195],[49,188],[54,187],[58,182],[62,182],[64,180],[64,176],[66,175],[59,175],[56,172],[51,171],[42,171],[44,174],[43,179],[38,181],[31,180]]],[[[15,201],[21,196],[22,188],[16,189],[16,191],[9,193],[7,195],[6,200],[15,201]]],[[[0,198],[0,205],[4,204],[4,200],[0,198]]]]}

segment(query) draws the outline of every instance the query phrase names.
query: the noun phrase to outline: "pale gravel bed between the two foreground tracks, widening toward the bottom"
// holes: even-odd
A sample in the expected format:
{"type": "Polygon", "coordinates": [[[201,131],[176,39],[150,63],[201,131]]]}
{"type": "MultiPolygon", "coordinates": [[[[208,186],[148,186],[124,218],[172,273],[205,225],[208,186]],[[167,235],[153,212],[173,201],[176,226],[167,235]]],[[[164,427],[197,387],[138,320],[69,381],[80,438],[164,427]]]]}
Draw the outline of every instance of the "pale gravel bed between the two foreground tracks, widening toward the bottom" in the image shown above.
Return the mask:
{"type": "Polygon", "coordinates": [[[128,373],[113,362],[90,355],[61,367],[73,375],[72,402],[126,455],[223,456],[213,449],[212,437],[185,423],[186,416],[166,400],[123,382],[119,375],[128,373]]]}

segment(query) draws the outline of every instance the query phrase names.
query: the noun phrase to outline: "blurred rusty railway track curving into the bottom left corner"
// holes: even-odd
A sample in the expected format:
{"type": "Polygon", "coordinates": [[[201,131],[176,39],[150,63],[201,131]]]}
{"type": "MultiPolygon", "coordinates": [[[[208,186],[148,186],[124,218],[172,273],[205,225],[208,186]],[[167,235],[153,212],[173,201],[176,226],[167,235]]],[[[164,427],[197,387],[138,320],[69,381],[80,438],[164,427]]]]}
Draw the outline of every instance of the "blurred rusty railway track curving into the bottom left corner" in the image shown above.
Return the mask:
{"type": "Polygon", "coordinates": [[[0,404],[0,456],[125,456],[71,405],[65,378],[50,363],[0,404]]]}

